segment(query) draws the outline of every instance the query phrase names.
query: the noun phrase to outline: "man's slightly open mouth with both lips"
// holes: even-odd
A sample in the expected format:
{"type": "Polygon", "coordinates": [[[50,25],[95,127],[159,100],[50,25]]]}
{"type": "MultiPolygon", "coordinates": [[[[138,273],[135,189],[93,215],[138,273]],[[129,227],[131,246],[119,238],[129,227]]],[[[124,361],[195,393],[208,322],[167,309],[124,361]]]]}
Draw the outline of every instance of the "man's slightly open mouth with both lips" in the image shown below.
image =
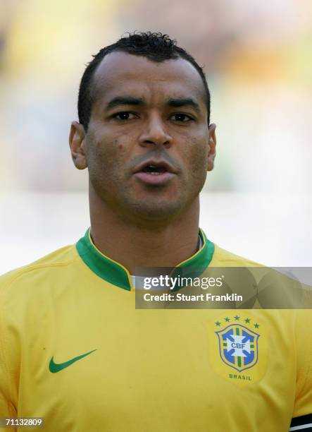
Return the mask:
{"type": "Polygon", "coordinates": [[[166,184],[176,175],[175,169],[165,161],[149,160],[135,169],[135,177],[146,184],[166,184]]]}

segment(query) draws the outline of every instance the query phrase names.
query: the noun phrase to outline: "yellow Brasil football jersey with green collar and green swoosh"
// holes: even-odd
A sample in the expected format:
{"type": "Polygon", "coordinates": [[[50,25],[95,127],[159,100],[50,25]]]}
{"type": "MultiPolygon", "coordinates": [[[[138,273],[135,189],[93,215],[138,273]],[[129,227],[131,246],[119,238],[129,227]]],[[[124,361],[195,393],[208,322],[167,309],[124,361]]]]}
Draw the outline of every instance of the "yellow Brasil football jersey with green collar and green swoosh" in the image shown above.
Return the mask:
{"type": "MultiPolygon", "coordinates": [[[[201,236],[184,267],[253,264],[201,236]]],[[[88,230],[0,278],[0,418],[43,417],[49,432],[308,431],[311,322],[137,309],[129,272],[88,230]]]]}

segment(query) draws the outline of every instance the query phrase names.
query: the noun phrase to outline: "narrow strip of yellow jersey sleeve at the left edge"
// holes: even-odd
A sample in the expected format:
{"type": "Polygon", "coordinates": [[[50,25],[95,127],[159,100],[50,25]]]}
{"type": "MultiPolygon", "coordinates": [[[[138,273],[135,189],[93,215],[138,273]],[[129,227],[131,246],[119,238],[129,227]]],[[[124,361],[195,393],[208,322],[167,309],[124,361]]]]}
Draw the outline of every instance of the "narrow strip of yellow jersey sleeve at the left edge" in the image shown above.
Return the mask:
{"type": "MultiPolygon", "coordinates": [[[[17,416],[13,402],[13,373],[9,367],[8,350],[8,323],[6,323],[6,285],[7,277],[0,277],[0,418],[17,416]]],[[[14,355],[14,353],[11,353],[14,355]]],[[[15,428],[2,428],[0,431],[16,431],[15,428]]]]}

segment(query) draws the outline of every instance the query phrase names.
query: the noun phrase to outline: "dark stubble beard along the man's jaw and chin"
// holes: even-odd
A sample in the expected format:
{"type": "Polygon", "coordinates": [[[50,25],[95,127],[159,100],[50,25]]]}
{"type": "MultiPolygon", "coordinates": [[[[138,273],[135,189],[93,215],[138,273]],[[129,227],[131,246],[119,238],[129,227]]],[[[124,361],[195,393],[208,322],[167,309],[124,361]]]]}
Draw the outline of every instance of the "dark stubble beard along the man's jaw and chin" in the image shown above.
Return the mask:
{"type": "Polygon", "coordinates": [[[89,185],[97,205],[115,213],[118,219],[127,224],[156,228],[157,225],[166,226],[178,217],[183,217],[194,201],[198,200],[206,181],[206,169],[199,156],[193,161],[189,176],[185,177],[180,172],[175,187],[170,184],[132,184],[132,172],[126,169],[128,174],[120,175],[124,169],[122,166],[116,166],[112,172],[111,167],[105,168],[105,157],[101,154],[92,156],[89,162],[93,162],[90,165],[94,169],[89,169],[89,185]],[[170,188],[173,190],[169,193],[170,188]]]}

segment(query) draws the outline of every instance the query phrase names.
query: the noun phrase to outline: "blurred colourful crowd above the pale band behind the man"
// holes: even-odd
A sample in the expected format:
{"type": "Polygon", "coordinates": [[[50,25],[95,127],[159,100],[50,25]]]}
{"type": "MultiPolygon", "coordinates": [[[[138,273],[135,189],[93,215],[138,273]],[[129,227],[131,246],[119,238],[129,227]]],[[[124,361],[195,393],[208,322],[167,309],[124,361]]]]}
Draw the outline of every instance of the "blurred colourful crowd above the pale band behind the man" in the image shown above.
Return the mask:
{"type": "Polygon", "coordinates": [[[83,191],[70,121],[92,54],[161,31],[204,66],[217,124],[211,191],[312,190],[310,0],[0,0],[0,191],[83,191]]]}

